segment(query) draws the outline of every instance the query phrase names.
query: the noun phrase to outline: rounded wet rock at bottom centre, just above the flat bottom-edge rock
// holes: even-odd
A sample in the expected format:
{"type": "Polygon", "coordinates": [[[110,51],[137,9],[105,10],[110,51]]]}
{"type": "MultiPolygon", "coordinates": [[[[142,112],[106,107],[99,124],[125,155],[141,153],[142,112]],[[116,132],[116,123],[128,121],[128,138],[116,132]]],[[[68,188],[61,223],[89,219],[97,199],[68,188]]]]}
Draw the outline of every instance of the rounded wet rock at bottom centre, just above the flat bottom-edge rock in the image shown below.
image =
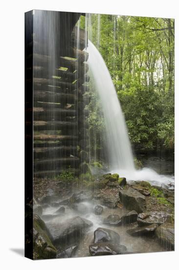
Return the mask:
{"type": "Polygon", "coordinates": [[[94,231],[94,243],[103,242],[120,243],[120,236],[110,229],[97,228],[94,231]]]}

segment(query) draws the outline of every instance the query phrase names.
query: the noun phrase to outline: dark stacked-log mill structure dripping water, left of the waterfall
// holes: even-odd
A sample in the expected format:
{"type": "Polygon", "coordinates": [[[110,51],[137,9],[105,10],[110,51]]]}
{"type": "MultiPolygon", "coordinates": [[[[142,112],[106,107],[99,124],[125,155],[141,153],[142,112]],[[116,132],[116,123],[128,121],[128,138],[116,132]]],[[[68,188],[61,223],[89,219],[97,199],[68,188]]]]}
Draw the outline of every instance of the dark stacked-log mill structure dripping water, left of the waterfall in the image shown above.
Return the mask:
{"type": "Polygon", "coordinates": [[[77,27],[81,15],[85,16],[39,10],[25,15],[25,177],[29,181],[88,170],[90,77],[84,50],[88,33],[77,27]]]}

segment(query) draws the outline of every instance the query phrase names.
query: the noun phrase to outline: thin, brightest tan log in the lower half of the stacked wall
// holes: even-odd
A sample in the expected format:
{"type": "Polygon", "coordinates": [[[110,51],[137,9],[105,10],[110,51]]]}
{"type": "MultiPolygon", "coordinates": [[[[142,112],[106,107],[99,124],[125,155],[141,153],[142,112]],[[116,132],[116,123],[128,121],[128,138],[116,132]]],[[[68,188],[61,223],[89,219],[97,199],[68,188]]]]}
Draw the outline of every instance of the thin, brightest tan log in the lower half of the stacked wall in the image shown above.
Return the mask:
{"type": "Polygon", "coordinates": [[[59,140],[59,141],[67,141],[67,140],[77,140],[77,136],[73,135],[47,135],[47,134],[34,134],[34,140],[59,140]]]}

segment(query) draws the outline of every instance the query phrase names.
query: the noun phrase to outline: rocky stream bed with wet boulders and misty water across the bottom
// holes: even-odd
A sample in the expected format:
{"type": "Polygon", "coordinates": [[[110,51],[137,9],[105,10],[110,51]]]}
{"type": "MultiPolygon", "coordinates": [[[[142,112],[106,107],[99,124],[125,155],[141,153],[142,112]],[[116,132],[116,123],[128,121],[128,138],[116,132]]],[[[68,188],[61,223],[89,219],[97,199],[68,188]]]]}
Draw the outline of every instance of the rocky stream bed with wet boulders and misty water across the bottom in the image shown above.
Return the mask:
{"type": "Polygon", "coordinates": [[[34,179],[34,259],[174,250],[174,187],[105,174],[88,186],[34,179]]]}

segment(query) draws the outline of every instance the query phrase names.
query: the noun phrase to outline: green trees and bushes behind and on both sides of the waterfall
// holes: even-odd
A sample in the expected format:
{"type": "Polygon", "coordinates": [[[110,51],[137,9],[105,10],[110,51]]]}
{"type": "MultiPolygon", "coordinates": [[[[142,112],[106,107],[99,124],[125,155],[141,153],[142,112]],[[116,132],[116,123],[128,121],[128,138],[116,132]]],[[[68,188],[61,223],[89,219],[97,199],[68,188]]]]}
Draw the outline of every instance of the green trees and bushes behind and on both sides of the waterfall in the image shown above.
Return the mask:
{"type": "MultiPolygon", "coordinates": [[[[89,38],[108,66],[131,142],[174,149],[174,20],[100,15],[99,30],[93,14],[91,24],[89,38]]],[[[91,144],[99,149],[104,119],[96,93],[90,94],[91,144]]]]}

